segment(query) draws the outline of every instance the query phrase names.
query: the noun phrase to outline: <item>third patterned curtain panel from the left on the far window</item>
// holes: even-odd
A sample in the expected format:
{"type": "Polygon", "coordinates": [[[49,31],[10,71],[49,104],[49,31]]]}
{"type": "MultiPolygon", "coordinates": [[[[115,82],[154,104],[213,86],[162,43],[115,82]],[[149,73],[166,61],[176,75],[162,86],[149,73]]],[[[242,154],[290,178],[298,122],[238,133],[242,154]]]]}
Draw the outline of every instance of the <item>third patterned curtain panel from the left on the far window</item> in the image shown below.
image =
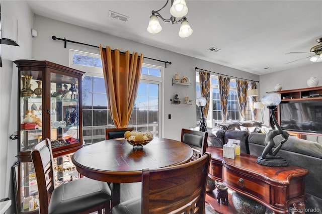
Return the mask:
{"type": "Polygon", "coordinates": [[[247,108],[247,96],[246,91],[248,87],[248,80],[236,79],[236,87],[237,87],[237,97],[239,104],[239,113],[240,120],[246,120],[246,108],[247,108]]]}

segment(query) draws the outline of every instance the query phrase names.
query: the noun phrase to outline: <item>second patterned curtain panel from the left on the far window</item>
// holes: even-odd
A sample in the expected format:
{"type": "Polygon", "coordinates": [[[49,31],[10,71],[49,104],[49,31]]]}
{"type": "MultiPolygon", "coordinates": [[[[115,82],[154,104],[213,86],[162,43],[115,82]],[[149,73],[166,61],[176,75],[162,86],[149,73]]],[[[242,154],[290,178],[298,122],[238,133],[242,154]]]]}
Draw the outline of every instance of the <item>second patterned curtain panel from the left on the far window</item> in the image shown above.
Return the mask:
{"type": "Polygon", "coordinates": [[[230,77],[218,75],[219,82],[219,97],[220,97],[220,105],[221,105],[221,116],[222,122],[226,122],[227,117],[227,107],[228,107],[228,94],[230,88],[230,77]]]}

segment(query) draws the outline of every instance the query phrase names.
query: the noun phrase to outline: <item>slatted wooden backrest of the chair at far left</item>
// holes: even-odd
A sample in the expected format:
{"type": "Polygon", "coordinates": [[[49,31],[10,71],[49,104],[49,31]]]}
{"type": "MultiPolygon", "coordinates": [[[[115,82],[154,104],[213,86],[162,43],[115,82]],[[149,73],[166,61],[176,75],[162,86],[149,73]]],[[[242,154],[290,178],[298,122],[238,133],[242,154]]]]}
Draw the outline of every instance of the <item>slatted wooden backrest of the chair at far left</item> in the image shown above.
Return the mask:
{"type": "Polygon", "coordinates": [[[43,140],[31,150],[39,193],[40,213],[48,213],[49,200],[55,188],[53,156],[49,139],[43,140]]]}

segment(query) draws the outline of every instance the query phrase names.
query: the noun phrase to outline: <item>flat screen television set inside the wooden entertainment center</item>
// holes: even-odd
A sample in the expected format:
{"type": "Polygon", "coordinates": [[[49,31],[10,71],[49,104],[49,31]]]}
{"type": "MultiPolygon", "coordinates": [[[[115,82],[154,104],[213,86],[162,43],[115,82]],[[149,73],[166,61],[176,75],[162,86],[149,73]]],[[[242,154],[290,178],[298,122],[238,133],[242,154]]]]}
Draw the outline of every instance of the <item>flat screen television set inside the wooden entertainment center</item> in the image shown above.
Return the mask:
{"type": "Polygon", "coordinates": [[[282,102],[280,122],[283,130],[322,134],[322,101],[282,102]]]}

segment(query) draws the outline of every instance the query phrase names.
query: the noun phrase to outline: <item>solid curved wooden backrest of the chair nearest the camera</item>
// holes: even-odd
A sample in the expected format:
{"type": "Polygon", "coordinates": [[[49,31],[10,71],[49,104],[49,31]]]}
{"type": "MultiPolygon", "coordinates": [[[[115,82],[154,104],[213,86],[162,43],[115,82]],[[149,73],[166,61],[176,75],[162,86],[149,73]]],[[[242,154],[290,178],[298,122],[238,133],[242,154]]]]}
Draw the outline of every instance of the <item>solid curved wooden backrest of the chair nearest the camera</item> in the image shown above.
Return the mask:
{"type": "Polygon", "coordinates": [[[205,213],[211,154],[185,164],[142,170],[142,213],[205,213]]]}

